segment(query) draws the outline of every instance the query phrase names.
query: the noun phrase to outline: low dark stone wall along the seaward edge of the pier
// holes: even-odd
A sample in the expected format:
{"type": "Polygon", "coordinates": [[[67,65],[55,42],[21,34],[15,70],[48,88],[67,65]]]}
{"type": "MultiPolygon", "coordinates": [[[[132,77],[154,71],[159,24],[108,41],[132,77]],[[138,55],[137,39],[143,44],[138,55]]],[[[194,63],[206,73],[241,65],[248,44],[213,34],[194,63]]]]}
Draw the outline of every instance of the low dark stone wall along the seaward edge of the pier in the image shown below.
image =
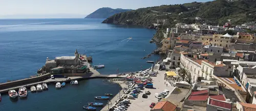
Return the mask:
{"type": "Polygon", "coordinates": [[[6,82],[6,83],[1,83],[0,84],[0,90],[10,88],[10,87],[15,87],[19,85],[24,85],[24,84],[29,84],[33,82],[38,82],[42,81],[44,79],[50,78],[50,73],[42,75],[42,76],[37,76],[37,77],[32,77],[32,78],[27,78],[27,79],[22,79],[22,80],[16,80],[16,81],[11,81],[11,82],[6,82]]]}

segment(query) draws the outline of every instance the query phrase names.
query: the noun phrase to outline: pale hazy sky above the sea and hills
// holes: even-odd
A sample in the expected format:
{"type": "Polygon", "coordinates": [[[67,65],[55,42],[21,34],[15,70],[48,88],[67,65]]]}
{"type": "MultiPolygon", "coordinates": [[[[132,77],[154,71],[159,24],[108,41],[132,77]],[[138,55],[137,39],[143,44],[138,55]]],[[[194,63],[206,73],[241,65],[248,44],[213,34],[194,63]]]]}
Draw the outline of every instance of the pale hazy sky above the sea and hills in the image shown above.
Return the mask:
{"type": "Polygon", "coordinates": [[[0,18],[83,18],[102,7],[138,9],[212,0],[0,0],[0,18]]]}

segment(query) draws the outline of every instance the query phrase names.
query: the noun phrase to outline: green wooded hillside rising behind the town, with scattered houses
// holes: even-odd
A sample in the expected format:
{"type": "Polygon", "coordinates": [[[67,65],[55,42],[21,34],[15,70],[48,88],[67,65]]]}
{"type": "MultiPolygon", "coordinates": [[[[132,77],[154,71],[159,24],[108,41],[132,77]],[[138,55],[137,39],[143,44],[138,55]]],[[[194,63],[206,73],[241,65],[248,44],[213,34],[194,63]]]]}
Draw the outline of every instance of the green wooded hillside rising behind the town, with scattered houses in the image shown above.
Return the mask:
{"type": "Polygon", "coordinates": [[[224,25],[227,19],[230,19],[232,25],[241,25],[253,21],[256,19],[255,3],[256,0],[217,0],[206,3],[162,5],[117,13],[106,18],[102,23],[156,28],[158,31],[153,39],[161,41],[162,31],[175,27],[177,23],[224,25]]]}

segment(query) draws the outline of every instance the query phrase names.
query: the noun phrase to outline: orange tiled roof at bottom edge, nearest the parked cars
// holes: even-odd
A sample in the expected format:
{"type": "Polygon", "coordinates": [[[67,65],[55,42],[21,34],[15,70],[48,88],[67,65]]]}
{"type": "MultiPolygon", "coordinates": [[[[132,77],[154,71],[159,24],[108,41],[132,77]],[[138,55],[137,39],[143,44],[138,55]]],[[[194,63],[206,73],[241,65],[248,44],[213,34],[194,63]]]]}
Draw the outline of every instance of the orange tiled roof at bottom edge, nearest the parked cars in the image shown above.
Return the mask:
{"type": "Polygon", "coordinates": [[[162,109],[163,111],[173,111],[176,109],[176,107],[176,105],[169,101],[161,101],[156,103],[156,105],[151,110],[162,109]]]}

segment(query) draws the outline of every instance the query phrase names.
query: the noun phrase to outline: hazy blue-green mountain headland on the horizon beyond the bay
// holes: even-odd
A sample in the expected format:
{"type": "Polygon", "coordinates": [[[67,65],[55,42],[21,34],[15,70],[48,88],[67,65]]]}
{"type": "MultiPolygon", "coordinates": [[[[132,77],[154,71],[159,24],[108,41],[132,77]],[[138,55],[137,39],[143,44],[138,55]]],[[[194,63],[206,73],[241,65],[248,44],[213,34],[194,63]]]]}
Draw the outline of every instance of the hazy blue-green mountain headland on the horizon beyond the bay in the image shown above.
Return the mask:
{"type": "Polygon", "coordinates": [[[131,11],[132,9],[112,9],[109,7],[100,8],[93,13],[87,15],[85,18],[108,18],[116,13],[131,11]]]}

